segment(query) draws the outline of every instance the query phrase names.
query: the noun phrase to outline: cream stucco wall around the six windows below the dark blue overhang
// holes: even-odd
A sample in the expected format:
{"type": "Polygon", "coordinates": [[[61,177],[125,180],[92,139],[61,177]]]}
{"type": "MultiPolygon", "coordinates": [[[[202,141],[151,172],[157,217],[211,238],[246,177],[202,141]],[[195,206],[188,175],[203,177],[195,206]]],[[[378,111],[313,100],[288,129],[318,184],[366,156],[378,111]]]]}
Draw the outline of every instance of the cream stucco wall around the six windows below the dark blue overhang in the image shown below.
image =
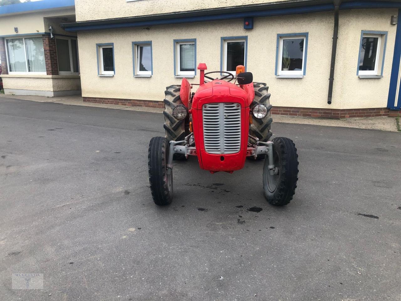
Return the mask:
{"type": "MultiPolygon", "coordinates": [[[[395,40],[390,16],[397,10],[349,10],[340,12],[340,31],[332,104],[327,104],[328,77],[333,31],[333,13],[255,18],[252,30],[243,20],[182,25],[79,32],[79,60],[82,94],[87,97],[162,100],[164,89],[179,84],[173,71],[173,39],[196,38],[196,61],[208,71],[220,70],[221,37],[248,36],[247,71],[255,81],[266,82],[273,106],[310,108],[376,108],[387,105],[387,94],[395,40]],[[218,28],[218,30],[216,29],[218,28]],[[361,30],[388,31],[384,76],[359,79],[356,76],[361,30]],[[277,33],[308,32],[308,57],[304,78],[276,78],[277,33]],[[132,41],[152,40],[153,75],[133,77],[132,41]],[[96,43],[114,43],[115,76],[97,76],[96,43]]],[[[198,83],[197,75],[190,82],[198,83]]]]}

